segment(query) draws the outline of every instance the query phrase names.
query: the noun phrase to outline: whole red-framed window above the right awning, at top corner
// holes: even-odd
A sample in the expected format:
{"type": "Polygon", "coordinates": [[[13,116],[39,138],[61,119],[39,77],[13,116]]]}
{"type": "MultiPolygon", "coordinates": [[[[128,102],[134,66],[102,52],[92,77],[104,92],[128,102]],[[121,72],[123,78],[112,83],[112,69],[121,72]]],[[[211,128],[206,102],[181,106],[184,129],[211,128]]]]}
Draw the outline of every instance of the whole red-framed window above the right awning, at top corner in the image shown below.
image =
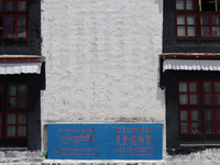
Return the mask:
{"type": "Polygon", "coordinates": [[[220,37],[219,0],[176,0],[176,36],[220,37]]]}

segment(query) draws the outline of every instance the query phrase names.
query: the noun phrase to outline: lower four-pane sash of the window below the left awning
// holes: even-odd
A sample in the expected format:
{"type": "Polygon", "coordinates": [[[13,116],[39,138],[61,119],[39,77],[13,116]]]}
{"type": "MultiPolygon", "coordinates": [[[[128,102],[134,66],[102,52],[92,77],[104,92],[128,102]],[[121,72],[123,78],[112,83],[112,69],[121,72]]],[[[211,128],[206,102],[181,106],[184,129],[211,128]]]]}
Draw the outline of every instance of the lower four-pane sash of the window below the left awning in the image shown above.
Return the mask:
{"type": "Polygon", "coordinates": [[[25,138],[28,129],[26,112],[6,113],[6,138],[25,138]]]}

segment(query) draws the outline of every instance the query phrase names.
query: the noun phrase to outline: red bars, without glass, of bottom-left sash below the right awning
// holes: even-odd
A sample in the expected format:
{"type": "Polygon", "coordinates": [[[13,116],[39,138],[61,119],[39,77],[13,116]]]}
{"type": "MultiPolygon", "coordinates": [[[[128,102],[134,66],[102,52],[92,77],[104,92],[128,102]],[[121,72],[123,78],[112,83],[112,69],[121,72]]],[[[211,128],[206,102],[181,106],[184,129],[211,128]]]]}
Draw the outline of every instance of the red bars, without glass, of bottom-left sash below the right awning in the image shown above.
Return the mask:
{"type": "Polygon", "coordinates": [[[201,134],[201,112],[200,109],[179,109],[179,133],[180,134],[201,134]],[[199,111],[199,120],[191,120],[191,111],[197,110],[199,111]],[[188,120],[186,121],[182,121],[182,117],[180,117],[180,111],[187,111],[188,112],[188,120]],[[193,132],[193,122],[199,122],[199,132],[193,132]],[[182,132],[182,123],[188,123],[189,124],[189,132],[188,133],[184,133],[182,132]]]}

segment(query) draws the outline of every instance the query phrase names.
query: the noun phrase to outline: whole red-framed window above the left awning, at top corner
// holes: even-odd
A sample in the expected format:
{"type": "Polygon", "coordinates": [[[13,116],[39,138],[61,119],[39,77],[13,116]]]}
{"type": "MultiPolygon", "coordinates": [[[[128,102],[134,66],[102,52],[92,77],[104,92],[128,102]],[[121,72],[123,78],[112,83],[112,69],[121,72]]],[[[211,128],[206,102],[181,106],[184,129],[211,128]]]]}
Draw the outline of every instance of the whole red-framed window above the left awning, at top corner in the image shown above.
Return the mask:
{"type": "Polygon", "coordinates": [[[2,38],[28,37],[28,0],[0,0],[2,38]]]}

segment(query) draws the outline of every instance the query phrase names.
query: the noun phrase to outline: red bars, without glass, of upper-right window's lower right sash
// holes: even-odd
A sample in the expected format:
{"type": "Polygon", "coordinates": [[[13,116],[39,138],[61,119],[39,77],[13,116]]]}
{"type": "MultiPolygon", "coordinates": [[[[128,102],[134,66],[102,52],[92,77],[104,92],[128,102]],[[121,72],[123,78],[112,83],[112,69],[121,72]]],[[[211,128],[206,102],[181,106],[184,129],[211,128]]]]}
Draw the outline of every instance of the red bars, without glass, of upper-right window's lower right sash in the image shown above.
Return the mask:
{"type": "Polygon", "coordinates": [[[199,24],[200,24],[200,35],[201,35],[201,37],[220,37],[220,35],[219,36],[212,35],[212,28],[215,28],[215,26],[220,28],[220,14],[219,13],[201,13],[201,14],[199,14],[199,24]],[[201,16],[202,15],[208,15],[209,24],[201,24],[201,16]],[[219,15],[219,24],[212,24],[212,15],[219,15]],[[208,36],[202,36],[202,34],[201,34],[201,28],[202,26],[209,28],[209,35],[208,36]]]}

